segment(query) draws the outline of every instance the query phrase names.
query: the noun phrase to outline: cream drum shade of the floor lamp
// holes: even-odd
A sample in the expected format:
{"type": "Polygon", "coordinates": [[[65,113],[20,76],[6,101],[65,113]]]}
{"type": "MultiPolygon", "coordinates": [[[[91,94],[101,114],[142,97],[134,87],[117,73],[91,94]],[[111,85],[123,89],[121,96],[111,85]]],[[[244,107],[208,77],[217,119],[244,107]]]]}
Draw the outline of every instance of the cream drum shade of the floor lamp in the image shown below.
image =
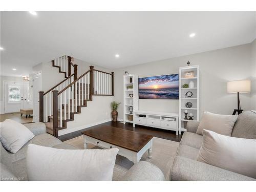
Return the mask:
{"type": "Polygon", "coordinates": [[[238,80],[227,82],[228,93],[250,93],[251,81],[250,80],[238,80]]]}

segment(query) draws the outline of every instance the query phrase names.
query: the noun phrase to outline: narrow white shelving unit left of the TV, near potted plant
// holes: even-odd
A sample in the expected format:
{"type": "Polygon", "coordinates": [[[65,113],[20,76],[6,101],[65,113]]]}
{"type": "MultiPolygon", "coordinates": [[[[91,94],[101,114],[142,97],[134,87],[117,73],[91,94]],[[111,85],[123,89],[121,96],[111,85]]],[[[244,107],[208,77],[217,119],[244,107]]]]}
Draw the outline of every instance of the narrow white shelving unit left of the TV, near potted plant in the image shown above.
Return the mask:
{"type": "Polygon", "coordinates": [[[125,122],[134,124],[134,111],[138,110],[139,105],[139,83],[138,83],[138,75],[129,74],[123,75],[123,124],[125,122]],[[132,77],[132,82],[130,82],[130,78],[132,77]],[[133,86],[132,90],[127,90],[127,86],[133,86]],[[133,94],[133,97],[130,96],[133,94]],[[128,111],[129,106],[133,106],[133,113],[130,114],[128,111]],[[132,116],[133,120],[129,120],[129,116],[132,116]]]}

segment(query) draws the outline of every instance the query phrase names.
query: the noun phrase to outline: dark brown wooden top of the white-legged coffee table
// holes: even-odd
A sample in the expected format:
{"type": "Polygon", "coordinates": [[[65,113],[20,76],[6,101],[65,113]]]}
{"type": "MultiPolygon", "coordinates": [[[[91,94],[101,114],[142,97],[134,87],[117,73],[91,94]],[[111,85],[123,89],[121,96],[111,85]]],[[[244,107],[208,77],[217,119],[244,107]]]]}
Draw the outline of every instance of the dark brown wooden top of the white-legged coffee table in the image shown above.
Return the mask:
{"type": "Polygon", "coordinates": [[[152,135],[128,131],[112,126],[96,127],[84,131],[82,134],[134,152],[139,152],[141,148],[153,138],[152,135]]]}

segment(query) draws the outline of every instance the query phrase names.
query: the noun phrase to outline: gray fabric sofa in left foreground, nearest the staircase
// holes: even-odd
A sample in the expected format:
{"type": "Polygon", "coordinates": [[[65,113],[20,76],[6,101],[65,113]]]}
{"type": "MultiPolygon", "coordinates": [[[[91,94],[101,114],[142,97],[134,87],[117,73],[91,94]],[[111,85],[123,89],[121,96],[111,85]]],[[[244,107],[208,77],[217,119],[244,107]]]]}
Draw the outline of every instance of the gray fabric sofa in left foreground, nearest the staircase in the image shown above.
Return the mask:
{"type": "MultiPolygon", "coordinates": [[[[28,144],[30,143],[54,148],[77,150],[76,147],[63,143],[59,139],[46,133],[46,126],[44,123],[28,123],[24,125],[28,127],[35,137],[20,148],[16,154],[6,151],[0,142],[1,180],[28,180],[26,172],[26,152],[28,144]]],[[[145,161],[141,161],[136,163],[127,172],[124,172],[124,170],[121,170],[115,166],[113,180],[164,181],[164,175],[157,166],[145,161]]]]}

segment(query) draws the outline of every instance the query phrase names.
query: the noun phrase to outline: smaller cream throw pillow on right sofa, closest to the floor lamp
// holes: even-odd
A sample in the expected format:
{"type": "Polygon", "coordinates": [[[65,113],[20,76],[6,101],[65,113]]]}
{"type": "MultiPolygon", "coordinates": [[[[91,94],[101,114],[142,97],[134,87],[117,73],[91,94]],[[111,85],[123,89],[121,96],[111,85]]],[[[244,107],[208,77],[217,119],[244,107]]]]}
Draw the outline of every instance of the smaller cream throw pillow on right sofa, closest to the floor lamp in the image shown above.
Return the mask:
{"type": "Polygon", "coordinates": [[[203,130],[210,130],[222,135],[231,136],[237,119],[237,115],[219,115],[204,111],[198,125],[197,134],[202,135],[203,130]]]}

